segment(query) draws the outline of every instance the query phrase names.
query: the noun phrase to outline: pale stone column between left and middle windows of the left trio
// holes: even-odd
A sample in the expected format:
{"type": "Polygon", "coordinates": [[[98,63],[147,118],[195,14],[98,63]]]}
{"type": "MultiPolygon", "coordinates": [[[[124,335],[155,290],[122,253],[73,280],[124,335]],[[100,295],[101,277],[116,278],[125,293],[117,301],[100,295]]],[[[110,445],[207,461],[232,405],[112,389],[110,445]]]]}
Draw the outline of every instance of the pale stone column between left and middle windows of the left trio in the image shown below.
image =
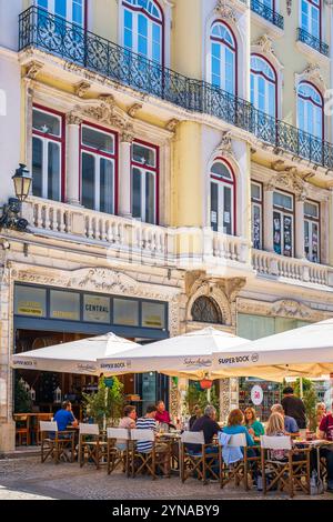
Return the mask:
{"type": "Polygon", "coordinates": [[[69,112],[67,121],[67,203],[80,204],[80,126],[82,120],[74,113],[69,112]]]}

